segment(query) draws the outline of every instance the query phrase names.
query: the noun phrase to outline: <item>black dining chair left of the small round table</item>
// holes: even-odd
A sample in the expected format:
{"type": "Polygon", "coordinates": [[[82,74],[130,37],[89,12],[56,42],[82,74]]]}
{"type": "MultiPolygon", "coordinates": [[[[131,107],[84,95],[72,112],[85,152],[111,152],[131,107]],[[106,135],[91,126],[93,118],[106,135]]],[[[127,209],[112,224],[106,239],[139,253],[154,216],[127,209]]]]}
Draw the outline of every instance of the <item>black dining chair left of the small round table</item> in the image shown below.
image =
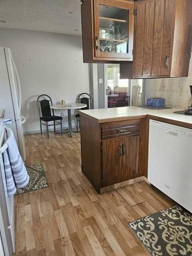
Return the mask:
{"type": "Polygon", "coordinates": [[[51,105],[53,104],[51,97],[47,94],[41,94],[37,98],[39,120],[40,120],[40,133],[42,134],[42,124],[46,125],[48,139],[49,139],[49,126],[52,126],[52,125],[54,125],[54,133],[56,132],[55,125],[60,125],[61,135],[62,135],[62,117],[55,116],[53,109],[51,114],[50,103],[51,105]],[[58,122],[58,120],[60,120],[60,122],[58,122]],[[53,122],[53,124],[48,124],[49,122],[53,122]]]}

